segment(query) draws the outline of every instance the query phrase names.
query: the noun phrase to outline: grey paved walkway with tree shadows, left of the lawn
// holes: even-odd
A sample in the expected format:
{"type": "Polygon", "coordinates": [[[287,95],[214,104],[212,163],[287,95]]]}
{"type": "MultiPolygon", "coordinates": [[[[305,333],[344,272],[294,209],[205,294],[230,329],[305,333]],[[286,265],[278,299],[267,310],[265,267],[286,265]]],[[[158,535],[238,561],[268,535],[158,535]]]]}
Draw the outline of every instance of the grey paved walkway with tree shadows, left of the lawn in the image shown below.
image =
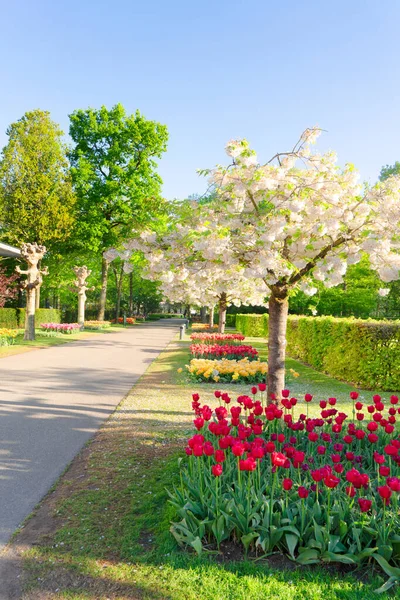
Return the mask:
{"type": "Polygon", "coordinates": [[[0,360],[0,549],[180,324],[157,321],[0,360]]]}

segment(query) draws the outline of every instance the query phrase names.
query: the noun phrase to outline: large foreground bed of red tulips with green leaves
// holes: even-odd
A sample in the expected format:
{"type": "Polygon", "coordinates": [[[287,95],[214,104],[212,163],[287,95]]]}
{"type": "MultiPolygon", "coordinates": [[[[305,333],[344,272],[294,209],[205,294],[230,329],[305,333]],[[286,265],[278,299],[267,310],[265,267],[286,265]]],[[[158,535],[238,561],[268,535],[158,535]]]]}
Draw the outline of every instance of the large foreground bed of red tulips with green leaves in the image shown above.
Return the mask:
{"type": "Polygon", "coordinates": [[[281,405],[267,403],[265,387],[235,403],[216,391],[215,409],[193,394],[196,431],[170,493],[174,537],[199,554],[231,540],[246,555],[278,551],[302,565],[376,561],[388,589],[400,579],[397,396],[365,405],[352,392],[352,414],[329,398],[308,417],[306,394],[295,418],[296,398],[284,390],[281,405]]]}

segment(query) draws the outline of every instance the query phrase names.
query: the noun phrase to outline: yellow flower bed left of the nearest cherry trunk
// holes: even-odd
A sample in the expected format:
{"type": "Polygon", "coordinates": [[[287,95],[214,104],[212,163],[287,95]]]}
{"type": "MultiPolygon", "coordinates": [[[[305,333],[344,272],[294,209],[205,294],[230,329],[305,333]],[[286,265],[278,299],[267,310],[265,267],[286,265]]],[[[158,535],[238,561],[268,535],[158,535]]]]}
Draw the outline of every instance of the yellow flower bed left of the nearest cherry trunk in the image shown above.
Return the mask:
{"type": "Polygon", "coordinates": [[[207,360],[193,358],[187,370],[197,381],[259,383],[265,380],[268,365],[259,360],[207,360]]]}

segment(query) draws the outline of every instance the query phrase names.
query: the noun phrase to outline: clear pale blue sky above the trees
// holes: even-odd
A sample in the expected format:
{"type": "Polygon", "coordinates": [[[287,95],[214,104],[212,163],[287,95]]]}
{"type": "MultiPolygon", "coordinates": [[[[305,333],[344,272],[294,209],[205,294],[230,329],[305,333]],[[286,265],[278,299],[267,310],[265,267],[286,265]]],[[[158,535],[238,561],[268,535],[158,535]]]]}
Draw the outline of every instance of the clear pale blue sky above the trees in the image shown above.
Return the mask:
{"type": "Polygon", "coordinates": [[[374,181],[400,160],[398,0],[0,0],[0,145],[34,108],[124,104],[165,123],[164,194],[246,137],[261,160],[308,126],[374,181]]]}

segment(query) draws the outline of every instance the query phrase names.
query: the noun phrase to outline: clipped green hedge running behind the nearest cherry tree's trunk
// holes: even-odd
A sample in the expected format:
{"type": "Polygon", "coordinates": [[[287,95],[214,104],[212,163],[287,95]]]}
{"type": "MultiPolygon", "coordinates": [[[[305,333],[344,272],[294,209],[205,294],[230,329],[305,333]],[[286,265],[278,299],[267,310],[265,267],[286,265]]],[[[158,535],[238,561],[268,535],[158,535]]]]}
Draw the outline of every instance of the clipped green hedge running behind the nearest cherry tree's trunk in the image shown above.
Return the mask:
{"type": "MultiPolygon", "coordinates": [[[[237,315],[236,329],[268,335],[268,315],[237,315]]],[[[287,353],[331,377],[400,391],[400,321],[290,315],[287,353]]]]}

